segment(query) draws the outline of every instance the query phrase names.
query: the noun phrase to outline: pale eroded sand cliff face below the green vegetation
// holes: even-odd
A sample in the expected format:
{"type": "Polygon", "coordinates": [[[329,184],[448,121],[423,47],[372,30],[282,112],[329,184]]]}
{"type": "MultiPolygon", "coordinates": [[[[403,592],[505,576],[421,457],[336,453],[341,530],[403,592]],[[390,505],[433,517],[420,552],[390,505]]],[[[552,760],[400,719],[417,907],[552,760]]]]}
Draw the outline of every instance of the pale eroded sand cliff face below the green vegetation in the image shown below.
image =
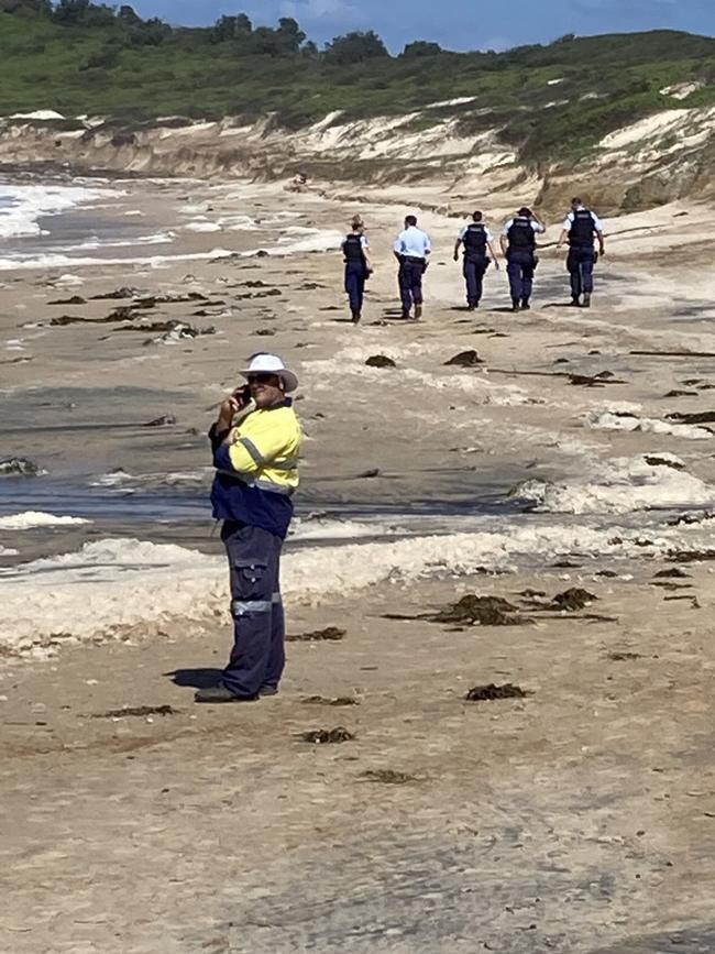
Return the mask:
{"type": "Polygon", "coordinates": [[[458,117],[428,122],[428,111],[353,122],[333,113],[297,131],[271,117],[250,125],[175,118],[133,127],[11,118],[0,120],[0,163],[261,180],[301,171],[338,186],[404,184],[406,196],[440,185],[458,201],[516,189],[547,210],[575,189],[608,215],[715,194],[715,108],[656,113],[605,136],[587,158],[538,167],[520,163],[496,129],[464,134],[458,117]]]}

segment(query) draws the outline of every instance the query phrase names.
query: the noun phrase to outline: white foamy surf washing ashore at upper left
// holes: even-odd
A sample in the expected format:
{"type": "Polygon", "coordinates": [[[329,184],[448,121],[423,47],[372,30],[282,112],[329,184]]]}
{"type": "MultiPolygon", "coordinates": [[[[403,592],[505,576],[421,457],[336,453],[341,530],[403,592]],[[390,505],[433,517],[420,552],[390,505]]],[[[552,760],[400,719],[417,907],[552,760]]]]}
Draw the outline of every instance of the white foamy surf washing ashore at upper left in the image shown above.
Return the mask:
{"type": "MultiPolygon", "coordinates": [[[[161,268],[220,255],[273,255],[336,250],[342,233],[293,222],[294,213],[207,215],[208,204],[186,202],[180,184],[146,194],[136,184],[106,179],[38,182],[0,179],[0,272],[74,270],[97,264],[161,268]],[[195,251],[172,250],[178,234],[199,240],[195,251]],[[200,240],[204,239],[204,243],[200,240]]],[[[187,183],[190,188],[190,183],[187,183]]],[[[144,188],[144,185],[141,186],[144,188]]],[[[239,190],[240,191],[240,190],[239,190]]],[[[245,186],[246,199],[255,187],[245,186]]]]}

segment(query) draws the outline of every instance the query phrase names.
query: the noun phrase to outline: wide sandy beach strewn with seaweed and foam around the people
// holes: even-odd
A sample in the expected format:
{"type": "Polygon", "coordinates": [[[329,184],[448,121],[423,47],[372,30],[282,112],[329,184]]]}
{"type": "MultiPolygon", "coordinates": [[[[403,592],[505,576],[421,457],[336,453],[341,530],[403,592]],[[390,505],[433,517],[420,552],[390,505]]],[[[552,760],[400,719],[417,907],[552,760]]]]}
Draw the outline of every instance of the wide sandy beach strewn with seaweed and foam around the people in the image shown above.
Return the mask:
{"type": "MultiPolygon", "coordinates": [[[[3,950],[711,951],[710,209],[607,219],[588,311],[552,211],[532,310],[491,268],[472,314],[448,188],[81,185],[0,248],[0,459],[41,471],[0,478],[3,950]],[[344,632],[292,642],[276,699],[207,711],[205,434],[258,350],[300,379],[288,632],[344,632]],[[507,603],[427,618],[466,594],[507,603]],[[465,700],[493,683],[522,694],[465,700]]],[[[496,232],[527,199],[481,205],[496,232]]]]}

